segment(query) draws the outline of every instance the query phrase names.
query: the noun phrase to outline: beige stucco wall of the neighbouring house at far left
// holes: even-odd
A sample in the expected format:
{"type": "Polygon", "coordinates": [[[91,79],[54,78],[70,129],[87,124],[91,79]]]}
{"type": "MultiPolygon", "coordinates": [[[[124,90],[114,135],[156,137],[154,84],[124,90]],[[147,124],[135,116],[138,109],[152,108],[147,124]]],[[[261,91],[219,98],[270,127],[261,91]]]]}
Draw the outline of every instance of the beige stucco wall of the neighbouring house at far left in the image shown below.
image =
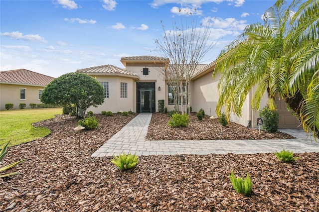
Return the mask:
{"type": "Polygon", "coordinates": [[[41,104],[39,100],[39,90],[42,86],[0,84],[0,109],[5,109],[5,104],[13,104],[13,109],[19,109],[19,104],[24,103],[25,108],[30,108],[29,104],[41,104]],[[20,99],[20,89],[25,89],[25,99],[20,99]]]}

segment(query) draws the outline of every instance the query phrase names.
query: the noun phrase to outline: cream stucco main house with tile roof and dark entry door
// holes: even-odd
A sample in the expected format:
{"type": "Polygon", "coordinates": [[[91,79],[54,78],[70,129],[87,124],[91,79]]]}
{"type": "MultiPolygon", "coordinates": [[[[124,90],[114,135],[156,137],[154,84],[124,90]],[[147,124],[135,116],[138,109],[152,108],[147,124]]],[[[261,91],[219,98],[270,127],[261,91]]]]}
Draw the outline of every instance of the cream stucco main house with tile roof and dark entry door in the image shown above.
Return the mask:
{"type": "MultiPolygon", "coordinates": [[[[165,70],[169,68],[169,60],[154,56],[123,57],[121,62],[125,69],[112,65],[96,66],[79,69],[77,72],[86,73],[99,81],[105,89],[105,101],[98,107],[91,106],[88,110],[95,113],[101,111],[117,112],[119,110],[133,112],[156,112],[158,101],[164,100],[168,111],[174,109],[171,85],[165,79],[165,70]]],[[[193,111],[203,108],[210,116],[217,116],[215,109],[218,102],[218,80],[212,79],[216,63],[200,64],[191,79],[190,105],[193,111]]],[[[247,96],[242,109],[242,117],[232,115],[231,121],[247,126],[251,121],[252,127],[257,127],[259,111],[253,111],[251,93],[247,96]]],[[[266,106],[267,97],[262,100],[261,108],[266,106]]],[[[297,118],[287,111],[284,102],[279,101],[280,128],[298,126],[297,118]]]]}

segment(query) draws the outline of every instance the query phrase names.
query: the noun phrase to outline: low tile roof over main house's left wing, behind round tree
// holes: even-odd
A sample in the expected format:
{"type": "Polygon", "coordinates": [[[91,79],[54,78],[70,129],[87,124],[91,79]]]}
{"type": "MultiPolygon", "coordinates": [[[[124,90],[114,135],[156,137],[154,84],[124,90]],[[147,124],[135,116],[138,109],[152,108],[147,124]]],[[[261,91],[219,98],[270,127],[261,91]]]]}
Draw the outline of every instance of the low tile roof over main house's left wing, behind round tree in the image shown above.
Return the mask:
{"type": "Polygon", "coordinates": [[[76,70],[80,73],[97,73],[97,74],[125,74],[130,76],[139,76],[135,72],[128,71],[126,69],[121,69],[119,67],[113,65],[103,65],[103,66],[95,66],[85,69],[78,69],[76,70]]]}

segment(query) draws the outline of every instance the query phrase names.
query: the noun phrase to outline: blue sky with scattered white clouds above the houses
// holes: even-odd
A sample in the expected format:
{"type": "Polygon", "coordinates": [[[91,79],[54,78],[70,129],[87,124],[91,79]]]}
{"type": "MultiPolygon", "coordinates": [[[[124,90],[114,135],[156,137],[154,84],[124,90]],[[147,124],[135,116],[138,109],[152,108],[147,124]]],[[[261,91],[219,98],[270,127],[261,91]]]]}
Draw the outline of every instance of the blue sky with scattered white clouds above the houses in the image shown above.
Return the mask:
{"type": "MultiPolygon", "coordinates": [[[[214,61],[274,0],[0,0],[0,69],[28,69],[52,77],[152,55],[155,39],[176,20],[211,20],[214,61]],[[196,9],[196,11],[194,10],[196,9]],[[192,12],[189,15],[189,11],[192,12]]],[[[289,1],[288,1],[289,2],[289,1]]]]}

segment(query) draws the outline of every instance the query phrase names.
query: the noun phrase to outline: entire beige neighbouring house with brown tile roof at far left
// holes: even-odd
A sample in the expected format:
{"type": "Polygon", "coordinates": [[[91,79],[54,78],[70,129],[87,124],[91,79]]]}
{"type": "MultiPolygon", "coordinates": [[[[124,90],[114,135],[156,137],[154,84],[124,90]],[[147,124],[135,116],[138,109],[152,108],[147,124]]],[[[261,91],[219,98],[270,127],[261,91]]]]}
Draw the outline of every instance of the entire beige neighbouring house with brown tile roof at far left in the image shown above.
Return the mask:
{"type": "Polygon", "coordinates": [[[16,69],[0,72],[0,109],[5,104],[13,104],[18,109],[20,103],[26,108],[29,104],[40,104],[43,89],[54,78],[26,69],[16,69]]]}

